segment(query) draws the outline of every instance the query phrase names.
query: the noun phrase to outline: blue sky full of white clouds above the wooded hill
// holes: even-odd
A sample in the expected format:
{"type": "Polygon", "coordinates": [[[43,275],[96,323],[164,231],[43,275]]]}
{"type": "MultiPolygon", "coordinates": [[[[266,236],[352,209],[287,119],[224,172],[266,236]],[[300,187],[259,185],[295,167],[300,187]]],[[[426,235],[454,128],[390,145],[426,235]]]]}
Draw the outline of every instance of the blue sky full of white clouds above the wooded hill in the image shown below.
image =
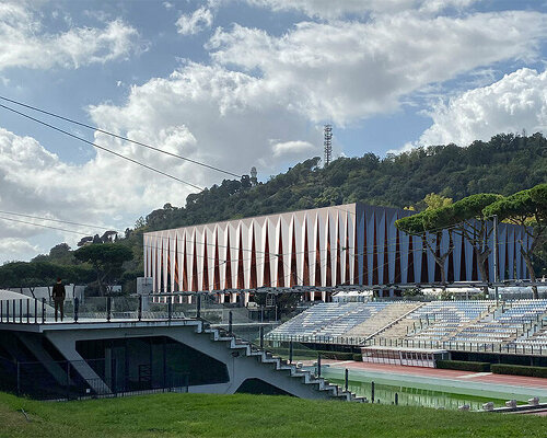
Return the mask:
{"type": "MultiPolygon", "coordinates": [[[[545,134],[546,61],[545,0],[0,0],[0,96],[260,181],[325,124],[335,158],[545,134]]],[[[0,104],[174,176],[0,107],[0,263],[231,177],[0,104]]]]}

